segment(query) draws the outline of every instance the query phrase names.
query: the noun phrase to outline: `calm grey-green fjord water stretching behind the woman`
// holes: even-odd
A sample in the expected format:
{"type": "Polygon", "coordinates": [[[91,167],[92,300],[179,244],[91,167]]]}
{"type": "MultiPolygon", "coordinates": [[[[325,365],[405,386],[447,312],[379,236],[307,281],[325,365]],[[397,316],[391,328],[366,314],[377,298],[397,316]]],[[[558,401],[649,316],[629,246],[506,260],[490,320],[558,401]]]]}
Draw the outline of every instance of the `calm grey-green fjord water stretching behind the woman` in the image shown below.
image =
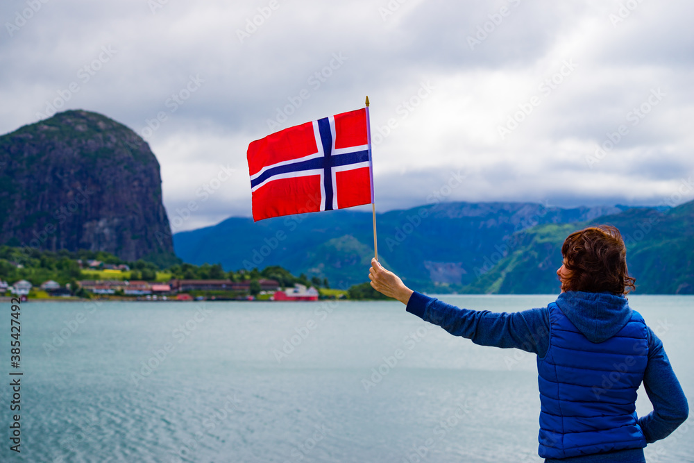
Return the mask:
{"type": "MultiPolygon", "coordinates": [[[[514,311],[554,296],[441,298],[514,311]]],[[[630,301],[691,401],[694,297],[630,301]]],[[[541,461],[534,355],[368,302],[24,303],[17,455],[1,304],[3,462],[541,461]]],[[[648,461],[694,462],[691,421],[648,461]]]]}

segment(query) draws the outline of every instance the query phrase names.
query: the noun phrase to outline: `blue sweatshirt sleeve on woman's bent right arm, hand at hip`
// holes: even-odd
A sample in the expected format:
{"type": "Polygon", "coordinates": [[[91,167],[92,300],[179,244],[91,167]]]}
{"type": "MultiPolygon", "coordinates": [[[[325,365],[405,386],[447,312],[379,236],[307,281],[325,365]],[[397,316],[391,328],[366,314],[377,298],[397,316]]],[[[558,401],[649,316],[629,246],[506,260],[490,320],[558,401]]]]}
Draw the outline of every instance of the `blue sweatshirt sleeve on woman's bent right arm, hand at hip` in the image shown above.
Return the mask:
{"type": "Polygon", "coordinates": [[[665,353],[663,343],[648,328],[648,364],[643,386],[653,404],[653,411],[638,419],[648,444],[665,439],[686,421],[689,405],[679,385],[675,371],[665,353]]]}

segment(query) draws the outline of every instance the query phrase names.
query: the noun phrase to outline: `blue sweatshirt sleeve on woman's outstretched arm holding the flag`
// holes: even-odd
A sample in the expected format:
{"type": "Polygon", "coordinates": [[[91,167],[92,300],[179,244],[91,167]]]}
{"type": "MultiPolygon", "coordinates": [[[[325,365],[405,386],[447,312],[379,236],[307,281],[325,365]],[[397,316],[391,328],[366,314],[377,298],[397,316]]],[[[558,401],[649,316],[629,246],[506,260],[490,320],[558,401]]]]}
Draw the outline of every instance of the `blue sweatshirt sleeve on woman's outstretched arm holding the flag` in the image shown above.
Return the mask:
{"type": "Polygon", "coordinates": [[[518,348],[540,357],[549,348],[550,321],[546,308],[510,314],[468,310],[414,292],[407,302],[407,312],[481,346],[518,348]]]}

